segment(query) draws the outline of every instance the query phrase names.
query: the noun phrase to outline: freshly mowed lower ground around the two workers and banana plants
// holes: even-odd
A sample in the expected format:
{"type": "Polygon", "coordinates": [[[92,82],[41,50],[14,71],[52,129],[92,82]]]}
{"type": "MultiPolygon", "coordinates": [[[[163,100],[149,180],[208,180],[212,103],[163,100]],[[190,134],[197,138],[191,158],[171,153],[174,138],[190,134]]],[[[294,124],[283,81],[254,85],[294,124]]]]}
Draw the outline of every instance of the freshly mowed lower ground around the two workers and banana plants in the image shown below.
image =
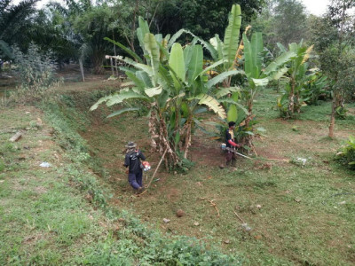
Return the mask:
{"type": "MultiPolygon", "coordinates": [[[[283,121],[274,110],[276,98],[274,91],[264,90],[255,103],[257,127],[266,129],[255,140],[256,160],[240,159],[236,168],[220,169],[224,155],[218,143],[198,132],[191,149],[195,167],[187,175],[161,169],[142,197],[132,196],[122,149],[135,140],[157,165],[159,156],[148,152],[146,119],[124,114],[99,121],[106,111],[98,111],[91,113],[83,137],[106,167],[103,180],[114,189],[112,204],[130,209],[152,227],[206,239],[226,253],[242,253],[251,265],[351,265],[355,175],[334,157],[355,134],[355,122],[352,117],[337,121],[336,138],[329,139],[330,103],[307,106],[299,120],[283,121]],[[177,209],[185,215],[178,218],[177,209]],[[162,223],[163,218],[170,223],[162,223]]],[[[146,175],[146,183],[152,175],[146,175]]]]}

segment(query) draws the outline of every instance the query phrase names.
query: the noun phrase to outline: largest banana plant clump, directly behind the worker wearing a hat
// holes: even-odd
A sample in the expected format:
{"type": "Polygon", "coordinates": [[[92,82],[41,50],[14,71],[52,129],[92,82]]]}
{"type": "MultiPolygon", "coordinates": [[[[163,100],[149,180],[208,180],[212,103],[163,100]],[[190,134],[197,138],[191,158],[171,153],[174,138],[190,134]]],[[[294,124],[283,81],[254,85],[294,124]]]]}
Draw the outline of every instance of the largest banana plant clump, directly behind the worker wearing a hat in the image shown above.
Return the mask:
{"type": "MultiPolygon", "coordinates": [[[[225,118],[225,109],[214,98],[213,88],[238,71],[219,74],[209,80],[207,72],[224,64],[225,60],[219,60],[203,69],[201,45],[192,43],[183,48],[181,44],[175,43],[177,35],[171,38],[153,35],[142,19],[139,19],[137,33],[144,59],[121,43],[111,40],[133,58],[122,58],[130,65],[122,67],[130,82],[122,84],[125,89],[99,99],[91,106],[91,111],[104,102],[107,106],[113,106],[130,99],[138,100],[139,105],[148,106],[152,144],[161,154],[167,151],[167,166],[173,168],[182,158],[187,157],[197,113],[207,111],[199,106],[208,106],[219,117],[225,118]]],[[[121,109],[110,116],[137,110],[138,107],[121,109]]]]}

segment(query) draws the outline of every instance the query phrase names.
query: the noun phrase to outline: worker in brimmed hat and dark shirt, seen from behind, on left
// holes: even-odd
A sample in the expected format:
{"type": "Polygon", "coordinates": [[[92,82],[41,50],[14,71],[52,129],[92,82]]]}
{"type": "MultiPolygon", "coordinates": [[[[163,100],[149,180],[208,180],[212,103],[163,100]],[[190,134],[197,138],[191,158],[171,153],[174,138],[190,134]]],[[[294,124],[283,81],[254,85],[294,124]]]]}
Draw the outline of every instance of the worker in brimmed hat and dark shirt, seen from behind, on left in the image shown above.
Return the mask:
{"type": "Polygon", "coordinates": [[[126,145],[126,148],[127,153],[123,165],[128,168],[128,181],[138,193],[143,192],[143,167],[140,160],[146,160],[146,156],[139,151],[137,145],[132,141],[126,145]]]}

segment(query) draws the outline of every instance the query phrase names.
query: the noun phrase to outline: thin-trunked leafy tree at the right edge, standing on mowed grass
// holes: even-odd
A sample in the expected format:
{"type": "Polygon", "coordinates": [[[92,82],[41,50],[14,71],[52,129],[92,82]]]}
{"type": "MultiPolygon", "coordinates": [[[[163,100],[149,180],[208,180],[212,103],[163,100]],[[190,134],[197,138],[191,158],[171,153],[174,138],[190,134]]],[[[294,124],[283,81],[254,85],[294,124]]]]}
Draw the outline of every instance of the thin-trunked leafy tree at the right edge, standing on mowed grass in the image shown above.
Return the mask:
{"type": "Polygon", "coordinates": [[[352,0],[333,0],[327,14],[313,27],[312,41],[319,52],[322,70],[333,81],[333,104],[330,116],[329,137],[334,137],[335,114],[343,108],[355,85],[354,15],[352,0]]]}

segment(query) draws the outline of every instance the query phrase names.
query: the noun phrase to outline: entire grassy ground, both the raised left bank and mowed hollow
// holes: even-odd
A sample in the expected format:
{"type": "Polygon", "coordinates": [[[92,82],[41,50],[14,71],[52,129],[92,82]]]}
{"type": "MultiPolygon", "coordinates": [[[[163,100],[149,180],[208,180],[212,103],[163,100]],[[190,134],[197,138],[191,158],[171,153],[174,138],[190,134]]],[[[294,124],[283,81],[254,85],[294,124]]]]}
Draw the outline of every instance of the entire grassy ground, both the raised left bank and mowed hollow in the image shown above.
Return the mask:
{"type": "Polygon", "coordinates": [[[266,129],[266,137],[255,142],[259,160],[220,169],[224,155],[218,144],[197,132],[192,170],[187,175],[161,170],[138,198],[121,167],[122,149],[134,138],[157,165],[159,156],[149,153],[146,118],[123,114],[107,120],[112,109],[105,108],[88,113],[111,89],[81,86],[71,83],[58,102],[46,102],[45,116],[31,106],[0,113],[4,131],[11,131],[0,134],[0,264],[355,262],[355,180],[333,160],[355,133],[354,121],[337,121],[336,139],[327,138],[329,103],[307,106],[300,120],[283,121],[272,108],[276,93],[265,90],[255,103],[258,126],[266,129]],[[43,127],[36,127],[37,117],[43,127]],[[18,129],[26,134],[10,144],[18,129]],[[52,167],[39,168],[44,160],[52,167]],[[177,218],[177,209],[185,215],[177,218]]]}

